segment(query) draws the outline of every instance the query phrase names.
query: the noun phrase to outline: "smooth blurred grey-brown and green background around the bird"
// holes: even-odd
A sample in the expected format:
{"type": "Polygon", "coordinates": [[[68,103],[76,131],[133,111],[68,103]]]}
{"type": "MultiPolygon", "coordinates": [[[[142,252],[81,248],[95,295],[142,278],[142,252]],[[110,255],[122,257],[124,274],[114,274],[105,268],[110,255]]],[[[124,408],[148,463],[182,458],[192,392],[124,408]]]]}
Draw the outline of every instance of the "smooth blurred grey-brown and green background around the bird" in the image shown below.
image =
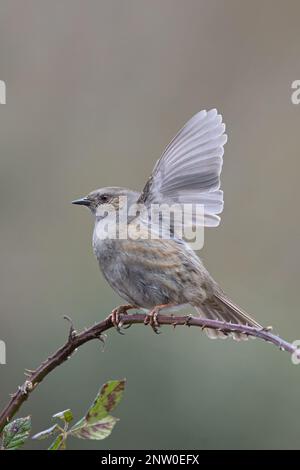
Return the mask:
{"type": "MultiPolygon", "coordinates": [[[[1,0],[1,408],[24,368],[64,342],[64,314],[81,329],[120,303],[92,253],[92,218],[70,201],[141,189],[203,108],[218,108],[229,136],[225,209],[204,261],[260,323],[300,339],[299,14],[297,0],[1,0]]],[[[67,407],[79,418],[123,377],[112,435],[69,448],[300,448],[300,366],[267,343],[192,328],[109,332],[105,352],[81,347],[19,415],[34,432],[67,407]]]]}

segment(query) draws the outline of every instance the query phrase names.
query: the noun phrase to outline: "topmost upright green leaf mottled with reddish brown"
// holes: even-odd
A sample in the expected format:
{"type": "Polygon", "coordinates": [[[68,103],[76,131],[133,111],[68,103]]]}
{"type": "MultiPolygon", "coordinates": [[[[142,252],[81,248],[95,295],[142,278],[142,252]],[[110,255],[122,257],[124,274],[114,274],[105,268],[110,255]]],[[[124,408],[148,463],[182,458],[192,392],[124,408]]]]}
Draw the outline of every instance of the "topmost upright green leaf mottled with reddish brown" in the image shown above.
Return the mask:
{"type": "Polygon", "coordinates": [[[93,423],[105,418],[120,402],[124,389],[125,379],[110,380],[104,384],[85,415],[85,419],[89,423],[93,423]]]}

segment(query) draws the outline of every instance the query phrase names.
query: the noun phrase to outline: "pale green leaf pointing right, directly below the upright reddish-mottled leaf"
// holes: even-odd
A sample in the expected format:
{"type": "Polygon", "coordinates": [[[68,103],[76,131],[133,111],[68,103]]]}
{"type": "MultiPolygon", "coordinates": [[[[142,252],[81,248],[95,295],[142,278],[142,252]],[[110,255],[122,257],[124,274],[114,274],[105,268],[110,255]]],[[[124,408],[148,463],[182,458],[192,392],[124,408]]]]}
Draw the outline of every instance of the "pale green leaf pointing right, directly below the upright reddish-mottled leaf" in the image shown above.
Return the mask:
{"type": "Polygon", "coordinates": [[[117,421],[117,418],[110,415],[93,423],[89,423],[86,418],[83,418],[77,423],[76,428],[70,429],[69,434],[80,439],[105,439],[110,435],[117,421]]]}

